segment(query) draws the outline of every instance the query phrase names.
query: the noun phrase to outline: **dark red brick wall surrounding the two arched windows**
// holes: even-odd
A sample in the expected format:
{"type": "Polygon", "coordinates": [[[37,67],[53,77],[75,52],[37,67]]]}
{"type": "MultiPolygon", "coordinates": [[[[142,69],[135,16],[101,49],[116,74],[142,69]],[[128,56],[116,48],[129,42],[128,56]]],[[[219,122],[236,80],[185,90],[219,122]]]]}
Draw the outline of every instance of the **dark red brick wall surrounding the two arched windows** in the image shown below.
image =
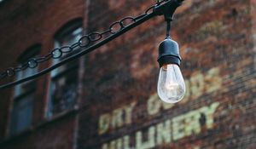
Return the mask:
{"type": "MultiPolygon", "coordinates": [[[[22,52],[35,44],[41,53],[54,48],[54,35],[67,22],[84,17],[85,3],[78,1],[4,1],[0,4],[0,70],[17,65],[22,52]]],[[[44,69],[50,62],[40,66],[44,69]]],[[[9,79],[8,81],[11,81],[9,79]]],[[[49,75],[38,79],[34,100],[32,128],[17,136],[9,136],[9,117],[12,108],[12,89],[0,95],[0,148],[73,148],[75,112],[60,117],[45,118],[49,75]]]]}

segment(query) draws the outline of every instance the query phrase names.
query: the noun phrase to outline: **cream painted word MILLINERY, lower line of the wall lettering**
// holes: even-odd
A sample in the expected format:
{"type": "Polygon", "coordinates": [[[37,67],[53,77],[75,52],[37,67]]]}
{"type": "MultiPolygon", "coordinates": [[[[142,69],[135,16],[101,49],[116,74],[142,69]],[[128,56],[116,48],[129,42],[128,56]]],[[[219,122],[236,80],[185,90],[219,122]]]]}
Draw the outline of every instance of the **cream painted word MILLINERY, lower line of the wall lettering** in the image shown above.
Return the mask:
{"type": "MultiPolygon", "coordinates": [[[[102,145],[102,149],[147,149],[163,144],[170,144],[185,136],[201,133],[201,127],[212,129],[213,114],[219,103],[187,112],[177,117],[166,119],[164,122],[150,126],[146,132],[138,130],[135,133],[135,145],[130,145],[130,135],[125,135],[117,140],[112,140],[102,145]],[[143,139],[147,136],[147,140],[143,139]]],[[[133,140],[134,141],[134,140],[133,140]]]]}

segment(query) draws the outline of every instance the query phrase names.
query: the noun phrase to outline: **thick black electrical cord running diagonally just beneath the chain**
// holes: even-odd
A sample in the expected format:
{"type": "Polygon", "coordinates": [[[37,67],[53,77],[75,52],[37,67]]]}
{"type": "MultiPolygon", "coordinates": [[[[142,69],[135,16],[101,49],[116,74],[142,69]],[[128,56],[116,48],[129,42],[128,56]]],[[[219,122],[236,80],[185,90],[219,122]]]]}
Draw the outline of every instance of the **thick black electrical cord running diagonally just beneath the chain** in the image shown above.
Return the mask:
{"type": "MultiPolygon", "coordinates": [[[[22,78],[22,79],[20,79],[20,80],[18,80],[18,81],[11,82],[11,83],[5,83],[5,84],[3,84],[3,85],[0,86],[0,89],[7,89],[7,88],[12,87],[12,86],[15,86],[15,85],[17,85],[17,84],[19,84],[19,83],[24,83],[24,82],[26,82],[26,81],[35,79],[35,78],[37,78],[37,77],[40,77],[40,76],[42,76],[42,75],[44,75],[44,74],[46,74],[46,73],[48,73],[48,72],[54,70],[55,68],[57,68],[57,67],[59,67],[59,66],[62,66],[62,65],[64,65],[64,64],[66,64],[67,62],[69,62],[69,61],[71,61],[71,60],[75,60],[75,59],[81,57],[81,56],[84,55],[84,54],[88,54],[88,53],[94,51],[95,49],[101,47],[102,45],[104,45],[104,44],[106,44],[106,43],[112,41],[114,38],[119,37],[119,36],[121,36],[122,34],[124,34],[125,32],[130,31],[132,28],[141,25],[141,24],[142,24],[143,22],[145,22],[146,20],[149,20],[149,19],[153,18],[153,17],[156,16],[156,15],[163,14],[163,11],[162,11],[162,10],[163,10],[163,9],[166,9],[166,6],[172,5],[172,4],[173,4],[173,5],[177,5],[177,4],[182,3],[183,1],[184,1],[184,0],[162,0],[162,1],[158,2],[158,3],[156,3],[154,6],[151,6],[149,9],[147,9],[145,14],[139,15],[139,16],[137,16],[136,18],[126,17],[126,18],[124,18],[123,20],[120,20],[120,21],[115,22],[115,23],[113,23],[113,24],[110,26],[110,30],[107,31],[107,32],[111,32],[113,35],[111,35],[111,36],[109,36],[109,37],[103,39],[103,40],[100,41],[99,43],[96,43],[96,44],[94,44],[94,45],[91,45],[89,48],[86,48],[86,46],[82,46],[82,45],[81,45],[81,44],[83,44],[82,39],[83,39],[84,37],[86,37],[86,39],[87,39],[87,38],[88,38],[88,39],[90,38],[89,36],[84,36],[84,37],[80,38],[80,40],[79,40],[79,44],[80,44],[80,45],[79,45],[79,50],[81,50],[79,53],[73,54],[72,56],[67,57],[67,59],[61,60],[59,63],[55,64],[54,66],[49,66],[48,68],[44,69],[43,71],[38,72],[37,74],[34,74],[34,75],[30,76],[30,77],[25,77],[25,78],[22,78]],[[151,12],[151,13],[148,13],[149,11],[152,11],[152,12],[151,12]],[[131,23],[131,24],[128,25],[128,26],[123,26],[123,21],[124,21],[125,19],[127,19],[127,18],[128,18],[128,19],[129,19],[129,18],[130,18],[130,19],[132,18],[132,20],[133,20],[134,22],[131,23]],[[116,24],[119,24],[120,30],[117,31],[117,32],[113,32],[112,27],[115,26],[116,24]]],[[[176,9],[176,8],[175,8],[175,9],[176,9]]],[[[174,12],[174,10],[173,10],[173,12],[174,12]]],[[[106,32],[102,32],[102,34],[103,34],[103,33],[106,33],[106,32]]],[[[98,34],[98,33],[91,33],[91,34],[98,34]]],[[[101,36],[102,36],[102,34],[101,34],[101,36]]],[[[93,41],[93,40],[90,40],[90,41],[93,41]]],[[[89,42],[90,42],[90,41],[89,41],[89,42]]],[[[74,48],[75,48],[75,47],[78,47],[77,43],[74,43],[74,44],[71,46],[71,48],[72,48],[72,47],[74,47],[74,48]]],[[[71,48],[70,48],[70,47],[62,47],[62,49],[71,49],[71,48]]],[[[58,50],[59,50],[59,49],[58,49],[58,50]]],[[[53,50],[52,53],[53,53],[54,51],[55,51],[55,50],[53,50]]],[[[51,54],[52,54],[52,53],[51,53],[51,54]]],[[[65,53],[65,52],[63,52],[63,53],[65,53]]],[[[59,57],[58,57],[58,58],[59,58],[59,57]]],[[[49,58],[48,58],[47,56],[45,56],[45,59],[48,60],[49,58]]],[[[39,61],[39,60],[38,60],[38,61],[39,61]]],[[[29,62],[33,63],[33,62],[37,62],[37,61],[36,61],[36,60],[30,60],[29,62]]],[[[28,64],[29,64],[29,62],[28,62],[28,64]]],[[[26,64],[26,65],[27,65],[27,64],[26,64]]],[[[38,64],[37,64],[37,65],[38,65],[38,64]]],[[[36,65],[36,66],[37,66],[37,65],[36,65]]]]}

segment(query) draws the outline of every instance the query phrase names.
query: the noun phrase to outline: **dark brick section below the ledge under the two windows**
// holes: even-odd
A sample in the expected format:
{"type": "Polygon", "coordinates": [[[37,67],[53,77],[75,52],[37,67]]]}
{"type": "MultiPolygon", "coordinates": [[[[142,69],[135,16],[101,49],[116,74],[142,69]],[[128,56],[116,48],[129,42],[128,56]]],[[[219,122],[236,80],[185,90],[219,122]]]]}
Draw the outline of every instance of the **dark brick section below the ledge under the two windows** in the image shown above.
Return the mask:
{"type": "Polygon", "coordinates": [[[74,146],[74,114],[20,134],[1,144],[1,148],[13,149],[70,149],[74,146]]]}

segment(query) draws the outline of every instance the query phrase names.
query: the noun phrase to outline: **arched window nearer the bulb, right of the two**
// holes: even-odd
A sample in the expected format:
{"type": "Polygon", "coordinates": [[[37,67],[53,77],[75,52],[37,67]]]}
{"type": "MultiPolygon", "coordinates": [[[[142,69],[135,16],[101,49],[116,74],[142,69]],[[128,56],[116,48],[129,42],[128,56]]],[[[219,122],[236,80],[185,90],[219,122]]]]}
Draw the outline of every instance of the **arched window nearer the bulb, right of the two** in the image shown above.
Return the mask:
{"type": "MultiPolygon", "coordinates": [[[[65,26],[55,36],[55,48],[76,43],[82,36],[81,21],[65,26]]],[[[76,53],[63,54],[61,59],[54,60],[56,64],[60,60],[76,53]]],[[[73,60],[51,72],[51,83],[49,90],[48,117],[73,108],[77,99],[79,60],[73,60]]]]}

